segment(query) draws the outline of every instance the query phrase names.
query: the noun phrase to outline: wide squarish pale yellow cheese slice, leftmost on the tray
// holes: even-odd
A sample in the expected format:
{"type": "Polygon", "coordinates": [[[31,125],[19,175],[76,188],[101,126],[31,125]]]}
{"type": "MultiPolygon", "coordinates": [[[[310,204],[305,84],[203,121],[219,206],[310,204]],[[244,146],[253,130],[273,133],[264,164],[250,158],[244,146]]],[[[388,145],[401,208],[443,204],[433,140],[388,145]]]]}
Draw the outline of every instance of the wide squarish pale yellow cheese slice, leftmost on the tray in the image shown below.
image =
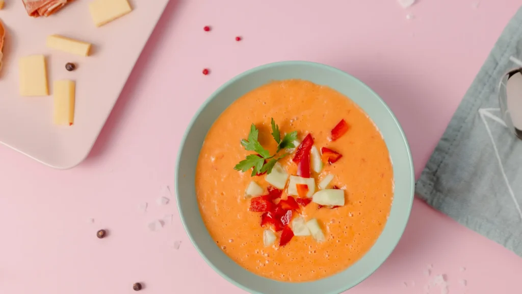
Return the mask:
{"type": "Polygon", "coordinates": [[[20,58],[19,84],[21,96],[48,96],[47,69],[43,55],[20,58]]]}

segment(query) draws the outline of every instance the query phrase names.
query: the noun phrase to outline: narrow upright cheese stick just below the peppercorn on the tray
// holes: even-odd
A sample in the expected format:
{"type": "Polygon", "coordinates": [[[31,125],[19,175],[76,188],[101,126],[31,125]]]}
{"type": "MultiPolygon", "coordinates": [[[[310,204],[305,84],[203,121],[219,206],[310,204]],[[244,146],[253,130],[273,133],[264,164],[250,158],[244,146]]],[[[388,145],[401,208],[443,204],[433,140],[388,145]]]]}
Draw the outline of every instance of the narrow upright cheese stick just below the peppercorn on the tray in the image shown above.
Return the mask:
{"type": "Polygon", "coordinates": [[[74,123],[75,103],[74,81],[54,81],[54,124],[72,126],[74,123]]]}

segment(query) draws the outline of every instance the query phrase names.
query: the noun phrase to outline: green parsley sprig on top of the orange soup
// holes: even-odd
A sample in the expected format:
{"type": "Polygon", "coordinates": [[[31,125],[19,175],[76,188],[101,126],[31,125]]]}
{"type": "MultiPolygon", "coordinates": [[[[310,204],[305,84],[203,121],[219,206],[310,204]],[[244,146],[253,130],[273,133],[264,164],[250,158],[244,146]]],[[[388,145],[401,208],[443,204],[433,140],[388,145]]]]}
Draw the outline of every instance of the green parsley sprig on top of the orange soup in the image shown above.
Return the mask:
{"type": "Polygon", "coordinates": [[[277,151],[274,155],[270,155],[270,152],[263,148],[263,146],[257,141],[257,137],[259,135],[259,130],[256,129],[256,126],[252,123],[250,126],[250,133],[248,133],[248,138],[241,140],[241,145],[247,151],[254,151],[257,154],[249,154],[242,160],[240,163],[234,166],[236,171],[242,171],[243,173],[248,171],[248,169],[252,168],[251,176],[255,176],[256,174],[265,173],[268,175],[272,172],[272,168],[276,163],[283,159],[288,153],[284,153],[282,155],[277,156],[279,151],[288,148],[295,148],[294,141],[297,139],[297,132],[293,131],[284,135],[281,140],[281,133],[279,132],[279,126],[276,125],[274,118],[271,121],[272,125],[272,137],[276,140],[277,143],[277,151]],[[266,161],[266,163],[265,163],[266,161]]]}

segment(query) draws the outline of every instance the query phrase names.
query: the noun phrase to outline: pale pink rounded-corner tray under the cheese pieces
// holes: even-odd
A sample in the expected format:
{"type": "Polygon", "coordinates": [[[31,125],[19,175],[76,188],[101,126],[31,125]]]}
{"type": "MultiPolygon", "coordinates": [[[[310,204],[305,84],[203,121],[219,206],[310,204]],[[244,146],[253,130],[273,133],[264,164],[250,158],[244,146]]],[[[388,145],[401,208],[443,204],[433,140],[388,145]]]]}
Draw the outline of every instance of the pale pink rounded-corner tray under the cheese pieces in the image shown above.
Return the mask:
{"type": "Polygon", "coordinates": [[[21,0],[6,0],[0,19],[7,33],[0,71],[0,142],[55,168],[74,167],[89,154],[141,50],[169,0],[129,0],[133,11],[102,27],[94,26],[90,0],[76,0],[50,17],[32,18],[21,0]],[[48,35],[93,44],[81,57],[48,49],[48,35]],[[50,95],[18,94],[18,59],[44,54],[50,95]],[[73,72],[67,62],[77,64],[73,72]],[[75,124],[53,125],[53,81],[76,81],[75,124]]]}

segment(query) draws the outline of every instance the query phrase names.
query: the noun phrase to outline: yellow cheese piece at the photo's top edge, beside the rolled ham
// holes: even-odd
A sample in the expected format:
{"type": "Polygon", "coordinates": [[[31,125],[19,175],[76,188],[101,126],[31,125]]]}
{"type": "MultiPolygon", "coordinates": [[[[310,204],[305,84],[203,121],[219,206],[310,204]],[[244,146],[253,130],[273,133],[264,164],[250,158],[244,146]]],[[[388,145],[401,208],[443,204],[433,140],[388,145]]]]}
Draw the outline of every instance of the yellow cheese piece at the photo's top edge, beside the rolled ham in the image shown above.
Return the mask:
{"type": "Polygon", "coordinates": [[[92,21],[97,27],[122,17],[132,11],[127,0],[94,0],[89,3],[92,21]]]}

